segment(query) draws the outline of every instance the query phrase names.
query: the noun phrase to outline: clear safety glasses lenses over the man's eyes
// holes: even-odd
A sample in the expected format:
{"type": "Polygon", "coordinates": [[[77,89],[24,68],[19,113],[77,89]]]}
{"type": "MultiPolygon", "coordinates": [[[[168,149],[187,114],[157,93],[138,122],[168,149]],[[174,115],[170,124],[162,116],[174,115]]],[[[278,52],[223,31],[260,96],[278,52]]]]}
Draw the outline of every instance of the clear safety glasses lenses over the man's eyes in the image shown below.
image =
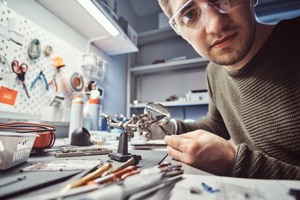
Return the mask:
{"type": "Polygon", "coordinates": [[[205,25],[205,8],[226,13],[243,0],[188,0],[177,9],[169,24],[177,34],[187,36],[205,25]]]}

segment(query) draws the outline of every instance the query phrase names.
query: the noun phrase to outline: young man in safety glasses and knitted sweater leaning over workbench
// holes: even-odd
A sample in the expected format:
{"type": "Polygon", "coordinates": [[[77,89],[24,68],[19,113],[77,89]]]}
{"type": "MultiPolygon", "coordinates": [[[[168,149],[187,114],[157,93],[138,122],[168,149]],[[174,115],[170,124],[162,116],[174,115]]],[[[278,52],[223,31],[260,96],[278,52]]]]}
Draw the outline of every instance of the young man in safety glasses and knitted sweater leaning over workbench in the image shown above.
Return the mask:
{"type": "MultiPolygon", "coordinates": [[[[170,120],[169,155],[216,175],[299,180],[300,17],[262,24],[257,0],[158,2],[173,29],[211,61],[208,115],[170,120]]],[[[146,139],[163,138],[151,132],[146,139]]]]}

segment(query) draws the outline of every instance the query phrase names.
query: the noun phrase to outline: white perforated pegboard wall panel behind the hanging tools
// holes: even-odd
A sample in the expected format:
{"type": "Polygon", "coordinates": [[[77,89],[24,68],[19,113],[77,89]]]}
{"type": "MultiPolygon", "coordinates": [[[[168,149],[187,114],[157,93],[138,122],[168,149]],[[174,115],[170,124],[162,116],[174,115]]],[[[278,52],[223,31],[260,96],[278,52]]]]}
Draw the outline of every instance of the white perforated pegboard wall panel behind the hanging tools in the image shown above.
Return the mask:
{"type": "MultiPolygon", "coordinates": [[[[28,65],[28,70],[25,73],[25,84],[30,98],[26,96],[21,81],[15,74],[13,74],[15,78],[3,77],[0,80],[0,85],[7,85],[8,81],[14,82],[13,89],[18,91],[14,104],[15,112],[39,114],[43,106],[47,106],[52,102],[55,93],[63,94],[65,98],[74,95],[63,90],[61,80],[66,73],[83,73],[81,66],[83,52],[0,3],[0,24],[7,27],[8,21],[12,17],[16,19],[18,33],[24,36],[23,45],[18,45],[0,35],[0,55],[6,58],[9,67],[11,67],[13,60],[17,60],[19,64],[25,63],[28,65]],[[37,38],[41,44],[41,54],[34,60],[28,55],[28,47],[33,38],[37,38]],[[52,46],[53,52],[50,56],[45,56],[43,52],[46,45],[52,46]],[[61,67],[59,71],[54,67],[52,60],[54,56],[60,56],[65,63],[65,66],[61,67]],[[34,86],[30,88],[31,82],[41,69],[43,69],[48,82],[55,74],[58,87],[57,92],[55,92],[55,85],[53,83],[49,85],[49,90],[47,91],[42,78],[38,79],[34,86]]],[[[4,66],[0,64],[0,73],[3,71],[4,66]]],[[[63,107],[68,108],[70,105],[71,99],[64,100],[62,104],[63,107]]]]}

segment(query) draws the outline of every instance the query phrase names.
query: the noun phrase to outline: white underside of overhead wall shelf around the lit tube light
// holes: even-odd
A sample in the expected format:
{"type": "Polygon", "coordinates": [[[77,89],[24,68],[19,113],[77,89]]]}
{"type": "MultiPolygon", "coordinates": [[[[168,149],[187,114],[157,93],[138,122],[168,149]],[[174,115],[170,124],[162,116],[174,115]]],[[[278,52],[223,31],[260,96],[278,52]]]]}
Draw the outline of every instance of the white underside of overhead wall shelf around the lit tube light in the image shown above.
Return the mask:
{"type": "MultiPolygon", "coordinates": [[[[88,39],[90,42],[106,52],[108,55],[136,52],[138,48],[131,42],[124,30],[118,23],[106,13],[98,2],[92,0],[96,7],[106,16],[106,18],[120,32],[116,36],[111,36],[77,0],[36,0],[57,17],[65,21],[77,32],[88,39]],[[57,6],[59,5],[59,6],[57,6]],[[71,7],[72,9],[68,9],[71,7]]],[[[87,50],[88,52],[88,50],[87,50]]]]}

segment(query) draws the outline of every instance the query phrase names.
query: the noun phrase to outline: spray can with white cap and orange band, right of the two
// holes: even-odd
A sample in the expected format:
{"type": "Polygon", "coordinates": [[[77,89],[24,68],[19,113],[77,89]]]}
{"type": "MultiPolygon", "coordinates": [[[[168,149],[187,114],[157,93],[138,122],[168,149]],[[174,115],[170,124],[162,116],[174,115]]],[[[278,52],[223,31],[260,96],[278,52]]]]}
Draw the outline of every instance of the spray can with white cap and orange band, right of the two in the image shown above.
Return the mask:
{"type": "Polygon", "coordinates": [[[91,130],[98,130],[99,126],[99,111],[100,111],[100,92],[97,89],[90,91],[89,114],[91,119],[91,130]]]}

